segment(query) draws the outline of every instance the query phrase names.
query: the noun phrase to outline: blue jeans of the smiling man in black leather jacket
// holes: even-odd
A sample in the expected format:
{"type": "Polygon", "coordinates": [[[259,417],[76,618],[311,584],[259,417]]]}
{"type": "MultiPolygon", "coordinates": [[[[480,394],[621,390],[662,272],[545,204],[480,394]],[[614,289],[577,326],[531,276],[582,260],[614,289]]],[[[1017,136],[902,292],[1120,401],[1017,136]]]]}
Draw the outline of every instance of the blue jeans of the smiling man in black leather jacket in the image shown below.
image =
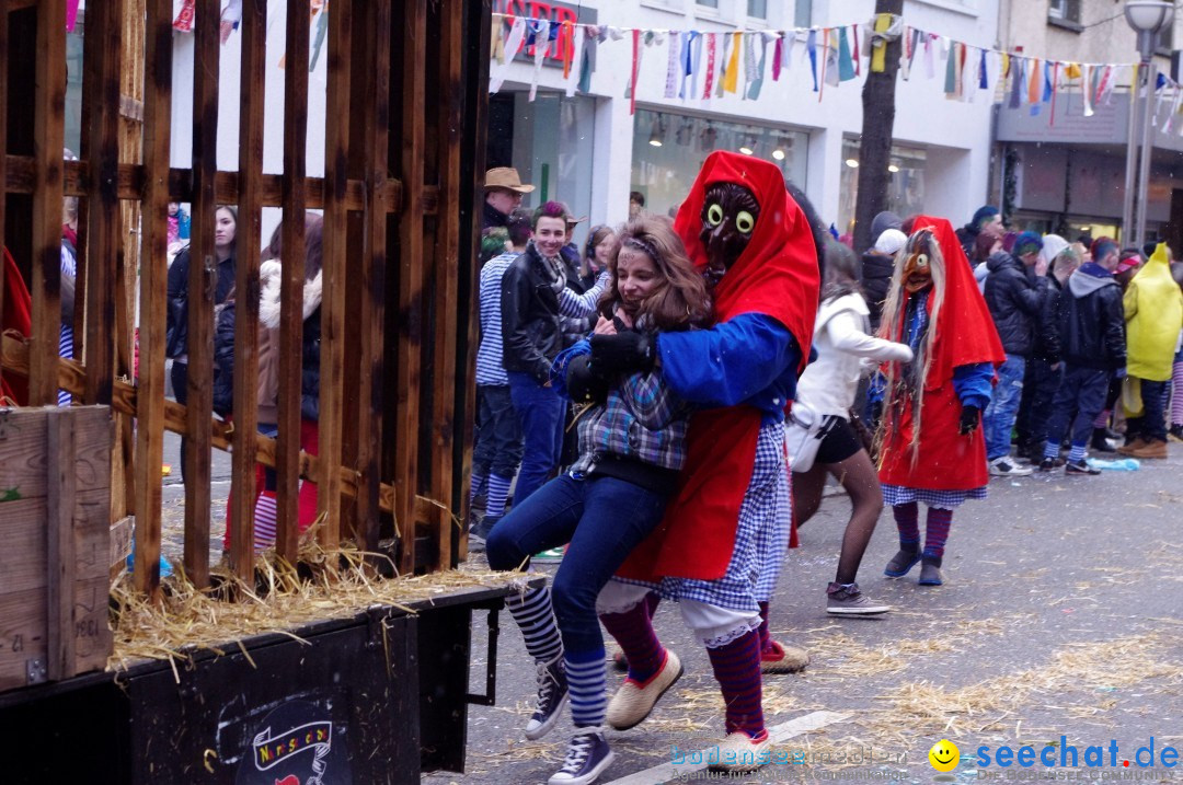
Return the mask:
{"type": "Polygon", "coordinates": [[[558,468],[567,402],[529,374],[509,372],[510,397],[522,423],[523,455],[513,506],[525,501],[558,468]]]}

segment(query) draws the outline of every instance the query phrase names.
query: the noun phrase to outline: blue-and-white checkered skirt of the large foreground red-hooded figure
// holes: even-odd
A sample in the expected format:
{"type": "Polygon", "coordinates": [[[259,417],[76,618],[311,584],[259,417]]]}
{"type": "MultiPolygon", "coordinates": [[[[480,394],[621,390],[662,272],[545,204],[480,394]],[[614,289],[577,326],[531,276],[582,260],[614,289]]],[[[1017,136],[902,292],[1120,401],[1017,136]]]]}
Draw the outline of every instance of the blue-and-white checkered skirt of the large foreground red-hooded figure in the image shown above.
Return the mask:
{"type": "Polygon", "coordinates": [[[726,573],[716,580],[662,578],[661,596],[757,611],[757,603],[771,597],[784,563],[790,505],[784,427],[782,423],[765,424],[756,441],[756,462],[739,507],[739,526],[726,573]]]}

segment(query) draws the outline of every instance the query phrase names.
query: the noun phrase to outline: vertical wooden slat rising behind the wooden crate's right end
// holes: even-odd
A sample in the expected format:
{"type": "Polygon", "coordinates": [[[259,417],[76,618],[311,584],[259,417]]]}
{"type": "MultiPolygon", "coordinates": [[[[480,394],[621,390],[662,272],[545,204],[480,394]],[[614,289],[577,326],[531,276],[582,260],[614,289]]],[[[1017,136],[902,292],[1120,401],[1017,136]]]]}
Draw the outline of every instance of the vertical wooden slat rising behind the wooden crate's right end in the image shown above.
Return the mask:
{"type": "MultiPolygon", "coordinates": [[[[83,403],[110,404],[115,382],[115,287],[119,275],[119,59],[123,1],[95,4],[86,14],[86,48],[93,71],[90,93],[91,186],[86,232],[86,390],[83,403]]],[[[80,325],[76,325],[76,331],[80,325]]]]}

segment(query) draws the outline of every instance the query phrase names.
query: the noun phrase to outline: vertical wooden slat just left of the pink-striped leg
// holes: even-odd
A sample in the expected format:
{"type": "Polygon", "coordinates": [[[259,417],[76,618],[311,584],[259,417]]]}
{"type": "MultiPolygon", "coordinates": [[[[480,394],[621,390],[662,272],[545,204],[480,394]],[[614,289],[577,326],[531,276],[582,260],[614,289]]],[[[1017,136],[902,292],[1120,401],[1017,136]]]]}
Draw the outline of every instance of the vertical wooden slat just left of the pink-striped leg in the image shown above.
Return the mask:
{"type": "Polygon", "coordinates": [[[234,452],[231,569],[254,575],[254,454],[259,420],[259,247],[263,232],[263,118],[267,0],[243,4],[238,144],[238,257],[234,268],[234,452]]]}

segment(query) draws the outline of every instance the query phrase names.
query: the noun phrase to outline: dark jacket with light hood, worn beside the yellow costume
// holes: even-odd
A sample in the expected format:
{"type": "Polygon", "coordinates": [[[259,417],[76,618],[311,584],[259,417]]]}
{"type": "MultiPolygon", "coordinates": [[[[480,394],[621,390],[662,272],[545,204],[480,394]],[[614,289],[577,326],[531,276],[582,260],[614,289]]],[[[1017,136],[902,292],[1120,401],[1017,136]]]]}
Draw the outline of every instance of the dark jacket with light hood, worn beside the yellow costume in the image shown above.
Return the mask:
{"type": "Polygon", "coordinates": [[[1125,307],[1112,275],[1072,273],[1060,294],[1059,316],[1065,362],[1098,370],[1125,368],[1125,307]]]}

